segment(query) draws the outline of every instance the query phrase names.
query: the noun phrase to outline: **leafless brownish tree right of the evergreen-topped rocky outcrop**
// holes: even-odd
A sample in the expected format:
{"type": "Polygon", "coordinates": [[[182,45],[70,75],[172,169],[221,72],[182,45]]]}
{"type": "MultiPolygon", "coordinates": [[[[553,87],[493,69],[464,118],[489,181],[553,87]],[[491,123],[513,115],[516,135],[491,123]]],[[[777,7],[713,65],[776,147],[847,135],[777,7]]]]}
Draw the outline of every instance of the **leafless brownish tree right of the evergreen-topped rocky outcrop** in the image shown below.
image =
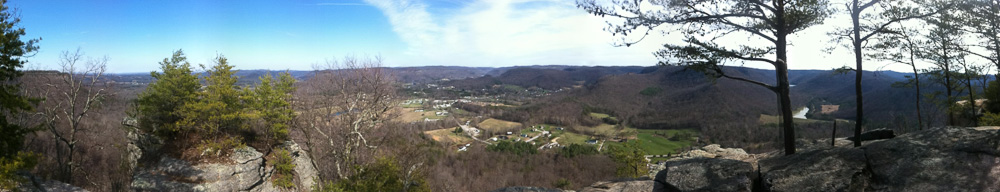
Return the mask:
{"type": "Polygon", "coordinates": [[[325,155],[333,157],[337,177],[344,179],[352,174],[349,168],[377,152],[375,135],[386,131],[381,129],[397,104],[395,81],[379,57],[347,57],[318,68],[300,88],[299,127],[329,145],[325,155]]]}

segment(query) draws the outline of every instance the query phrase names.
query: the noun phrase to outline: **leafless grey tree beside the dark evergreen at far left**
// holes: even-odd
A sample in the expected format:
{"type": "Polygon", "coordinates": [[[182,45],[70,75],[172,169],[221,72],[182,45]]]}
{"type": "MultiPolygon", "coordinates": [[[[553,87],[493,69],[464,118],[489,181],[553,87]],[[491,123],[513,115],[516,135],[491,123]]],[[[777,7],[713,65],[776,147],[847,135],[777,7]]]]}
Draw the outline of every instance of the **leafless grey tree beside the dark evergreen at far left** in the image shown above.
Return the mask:
{"type": "Polygon", "coordinates": [[[45,84],[36,92],[46,98],[39,104],[38,116],[42,126],[51,133],[57,149],[56,161],[64,181],[72,183],[73,171],[79,169],[74,155],[80,142],[80,134],[86,131],[83,122],[89,113],[101,105],[109,84],[102,81],[108,58],[83,59],[80,49],[63,51],[60,56],[58,74],[45,75],[45,84]],[[60,149],[65,146],[65,151],[60,149]]]}

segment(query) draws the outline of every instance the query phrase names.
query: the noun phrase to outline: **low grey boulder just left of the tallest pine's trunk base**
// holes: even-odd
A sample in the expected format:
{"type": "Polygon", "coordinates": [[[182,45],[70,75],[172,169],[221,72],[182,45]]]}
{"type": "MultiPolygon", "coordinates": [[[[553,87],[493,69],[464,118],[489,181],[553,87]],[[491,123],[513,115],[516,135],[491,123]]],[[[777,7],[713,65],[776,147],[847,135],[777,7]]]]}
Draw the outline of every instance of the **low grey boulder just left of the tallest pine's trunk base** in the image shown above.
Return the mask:
{"type": "Polygon", "coordinates": [[[654,178],[655,188],[669,191],[750,191],[756,172],[750,163],[694,158],[668,161],[654,178]]]}

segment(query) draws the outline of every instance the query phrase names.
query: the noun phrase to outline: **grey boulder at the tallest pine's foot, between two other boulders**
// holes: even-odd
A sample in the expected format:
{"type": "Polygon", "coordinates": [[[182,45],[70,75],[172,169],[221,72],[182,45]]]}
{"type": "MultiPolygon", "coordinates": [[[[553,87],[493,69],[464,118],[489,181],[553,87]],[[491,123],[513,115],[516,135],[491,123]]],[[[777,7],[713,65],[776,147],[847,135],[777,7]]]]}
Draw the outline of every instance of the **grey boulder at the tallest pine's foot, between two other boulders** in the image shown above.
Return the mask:
{"type": "Polygon", "coordinates": [[[805,151],[759,165],[768,191],[860,191],[867,186],[865,152],[856,148],[805,151]]]}

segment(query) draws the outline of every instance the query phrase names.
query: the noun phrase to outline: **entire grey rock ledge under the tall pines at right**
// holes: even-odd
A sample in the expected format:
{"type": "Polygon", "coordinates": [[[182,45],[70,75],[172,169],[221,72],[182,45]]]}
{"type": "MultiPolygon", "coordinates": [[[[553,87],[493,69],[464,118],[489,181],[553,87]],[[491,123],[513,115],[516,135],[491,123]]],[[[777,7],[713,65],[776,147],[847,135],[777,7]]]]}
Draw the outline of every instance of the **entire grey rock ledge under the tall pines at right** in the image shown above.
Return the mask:
{"type": "Polygon", "coordinates": [[[750,184],[752,188],[746,187],[746,179],[712,173],[743,173],[746,165],[704,157],[668,162],[667,168],[657,174],[654,188],[662,191],[1000,191],[1000,127],[935,128],[865,142],[861,148],[840,146],[841,143],[829,147],[827,140],[827,147],[800,148],[794,155],[757,161],[759,167],[750,171],[748,177],[759,175],[750,184]]]}

